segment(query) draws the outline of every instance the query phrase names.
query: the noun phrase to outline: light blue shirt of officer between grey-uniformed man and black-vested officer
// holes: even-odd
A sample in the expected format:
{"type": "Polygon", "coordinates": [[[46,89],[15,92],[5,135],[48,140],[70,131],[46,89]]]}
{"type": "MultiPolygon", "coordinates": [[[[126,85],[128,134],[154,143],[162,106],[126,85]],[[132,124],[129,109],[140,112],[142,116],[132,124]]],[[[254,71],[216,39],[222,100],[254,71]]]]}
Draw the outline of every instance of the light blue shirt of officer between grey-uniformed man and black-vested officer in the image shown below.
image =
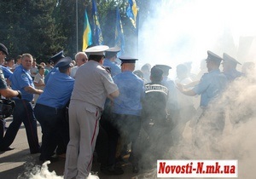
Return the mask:
{"type": "Polygon", "coordinates": [[[141,115],[144,93],[143,80],[132,72],[121,72],[113,77],[119,96],[113,100],[113,113],[141,115]]]}

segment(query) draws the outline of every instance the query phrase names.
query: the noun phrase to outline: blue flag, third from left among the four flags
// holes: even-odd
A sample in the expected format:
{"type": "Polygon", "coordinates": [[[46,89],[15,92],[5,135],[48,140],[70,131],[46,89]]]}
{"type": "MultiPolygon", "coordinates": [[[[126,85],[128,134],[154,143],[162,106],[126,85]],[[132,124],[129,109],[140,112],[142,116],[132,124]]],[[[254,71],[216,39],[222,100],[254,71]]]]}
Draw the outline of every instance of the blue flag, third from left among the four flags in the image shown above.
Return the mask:
{"type": "Polygon", "coordinates": [[[115,46],[118,46],[121,49],[119,51],[118,56],[124,55],[125,54],[125,36],[124,36],[122,21],[120,18],[119,8],[116,9],[116,25],[115,25],[114,43],[115,43],[115,46]]]}

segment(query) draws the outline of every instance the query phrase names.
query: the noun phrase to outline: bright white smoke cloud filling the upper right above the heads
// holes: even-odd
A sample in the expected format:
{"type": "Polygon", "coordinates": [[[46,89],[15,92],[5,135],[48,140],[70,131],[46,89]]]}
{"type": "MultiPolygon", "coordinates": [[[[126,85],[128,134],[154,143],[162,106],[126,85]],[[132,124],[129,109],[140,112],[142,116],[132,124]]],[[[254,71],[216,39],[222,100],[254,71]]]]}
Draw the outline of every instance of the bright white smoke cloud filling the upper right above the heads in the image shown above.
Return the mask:
{"type": "Polygon", "coordinates": [[[254,1],[162,0],[153,3],[154,12],[148,14],[139,32],[138,66],[147,62],[166,64],[172,66],[170,76],[174,78],[175,67],[185,61],[193,61],[192,70],[198,72],[207,50],[220,56],[228,53],[241,62],[255,58],[247,56],[249,52],[245,51],[251,46],[248,38],[256,37],[256,25],[252,23],[256,16],[254,1]]]}

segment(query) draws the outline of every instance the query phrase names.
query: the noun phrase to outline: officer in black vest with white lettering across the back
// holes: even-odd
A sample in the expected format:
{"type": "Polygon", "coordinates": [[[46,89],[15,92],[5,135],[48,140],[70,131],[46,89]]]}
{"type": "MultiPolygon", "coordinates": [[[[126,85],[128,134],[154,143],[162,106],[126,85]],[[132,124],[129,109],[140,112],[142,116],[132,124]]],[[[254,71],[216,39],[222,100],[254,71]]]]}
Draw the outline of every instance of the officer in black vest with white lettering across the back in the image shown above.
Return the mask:
{"type": "Polygon", "coordinates": [[[141,136],[141,157],[143,169],[152,167],[157,159],[162,159],[163,153],[171,145],[164,139],[167,131],[166,125],[166,103],[168,100],[168,89],[161,84],[163,71],[153,66],[149,78],[151,83],[145,84],[145,94],[143,98],[142,124],[143,130],[148,136],[141,136]],[[167,147],[168,146],[168,147],[167,147]],[[148,158],[148,156],[151,156],[148,158]]]}

